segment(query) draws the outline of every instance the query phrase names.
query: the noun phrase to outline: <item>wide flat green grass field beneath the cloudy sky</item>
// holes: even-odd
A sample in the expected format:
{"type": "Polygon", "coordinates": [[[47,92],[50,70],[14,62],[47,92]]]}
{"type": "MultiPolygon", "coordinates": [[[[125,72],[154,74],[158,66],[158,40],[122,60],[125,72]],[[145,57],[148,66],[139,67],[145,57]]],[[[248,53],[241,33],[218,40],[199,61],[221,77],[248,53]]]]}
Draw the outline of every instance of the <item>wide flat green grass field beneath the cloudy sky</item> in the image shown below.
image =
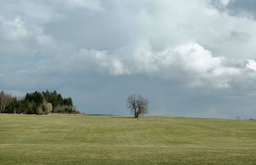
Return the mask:
{"type": "Polygon", "coordinates": [[[0,164],[256,164],[256,122],[0,114],[0,164]]]}

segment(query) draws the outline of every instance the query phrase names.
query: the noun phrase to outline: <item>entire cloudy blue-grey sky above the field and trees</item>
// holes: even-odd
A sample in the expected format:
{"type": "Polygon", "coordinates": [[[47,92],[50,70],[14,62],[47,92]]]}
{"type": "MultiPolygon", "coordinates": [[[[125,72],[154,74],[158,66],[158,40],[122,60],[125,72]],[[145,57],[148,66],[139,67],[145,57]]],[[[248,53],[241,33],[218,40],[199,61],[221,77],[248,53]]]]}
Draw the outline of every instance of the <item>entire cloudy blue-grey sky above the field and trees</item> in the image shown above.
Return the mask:
{"type": "Polygon", "coordinates": [[[256,118],[254,0],[0,0],[0,90],[88,114],[256,118]]]}

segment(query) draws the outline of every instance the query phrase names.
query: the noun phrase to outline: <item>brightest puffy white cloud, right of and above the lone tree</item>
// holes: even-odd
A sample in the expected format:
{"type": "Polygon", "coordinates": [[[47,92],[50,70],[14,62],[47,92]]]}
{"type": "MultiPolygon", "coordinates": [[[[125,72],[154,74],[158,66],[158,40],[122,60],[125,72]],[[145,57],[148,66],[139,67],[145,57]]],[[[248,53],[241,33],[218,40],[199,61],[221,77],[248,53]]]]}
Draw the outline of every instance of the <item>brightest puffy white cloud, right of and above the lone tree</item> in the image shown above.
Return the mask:
{"type": "Polygon", "coordinates": [[[189,86],[230,87],[230,81],[241,74],[241,68],[225,66],[224,57],[212,56],[198,43],[168,47],[161,52],[141,51],[133,60],[134,74],[159,75],[189,86]]]}

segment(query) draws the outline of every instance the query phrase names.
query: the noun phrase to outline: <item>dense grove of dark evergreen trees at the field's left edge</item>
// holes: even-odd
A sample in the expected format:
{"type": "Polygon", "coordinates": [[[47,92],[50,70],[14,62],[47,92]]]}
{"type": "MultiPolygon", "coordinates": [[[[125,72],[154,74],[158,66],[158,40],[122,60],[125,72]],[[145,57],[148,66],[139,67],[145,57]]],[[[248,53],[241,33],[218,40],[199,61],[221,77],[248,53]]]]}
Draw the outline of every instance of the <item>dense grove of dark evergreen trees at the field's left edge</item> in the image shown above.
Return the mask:
{"type": "Polygon", "coordinates": [[[70,97],[63,98],[56,91],[35,91],[27,93],[23,98],[12,97],[8,93],[0,93],[0,113],[48,114],[69,113],[77,114],[70,97]]]}

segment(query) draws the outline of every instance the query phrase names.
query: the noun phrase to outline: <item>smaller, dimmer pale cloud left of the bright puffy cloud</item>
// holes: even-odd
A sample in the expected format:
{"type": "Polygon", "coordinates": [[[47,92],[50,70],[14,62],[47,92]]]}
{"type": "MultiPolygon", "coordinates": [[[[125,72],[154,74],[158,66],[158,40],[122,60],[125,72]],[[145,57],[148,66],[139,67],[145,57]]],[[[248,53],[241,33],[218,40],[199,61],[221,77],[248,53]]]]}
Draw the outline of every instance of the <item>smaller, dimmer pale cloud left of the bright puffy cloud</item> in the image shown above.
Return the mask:
{"type": "Polygon", "coordinates": [[[108,75],[129,75],[130,71],[124,67],[124,63],[108,51],[97,51],[94,49],[80,49],[78,52],[70,56],[58,55],[54,59],[46,59],[40,61],[39,70],[52,72],[60,70],[64,74],[90,74],[97,72],[98,74],[108,75]]]}

